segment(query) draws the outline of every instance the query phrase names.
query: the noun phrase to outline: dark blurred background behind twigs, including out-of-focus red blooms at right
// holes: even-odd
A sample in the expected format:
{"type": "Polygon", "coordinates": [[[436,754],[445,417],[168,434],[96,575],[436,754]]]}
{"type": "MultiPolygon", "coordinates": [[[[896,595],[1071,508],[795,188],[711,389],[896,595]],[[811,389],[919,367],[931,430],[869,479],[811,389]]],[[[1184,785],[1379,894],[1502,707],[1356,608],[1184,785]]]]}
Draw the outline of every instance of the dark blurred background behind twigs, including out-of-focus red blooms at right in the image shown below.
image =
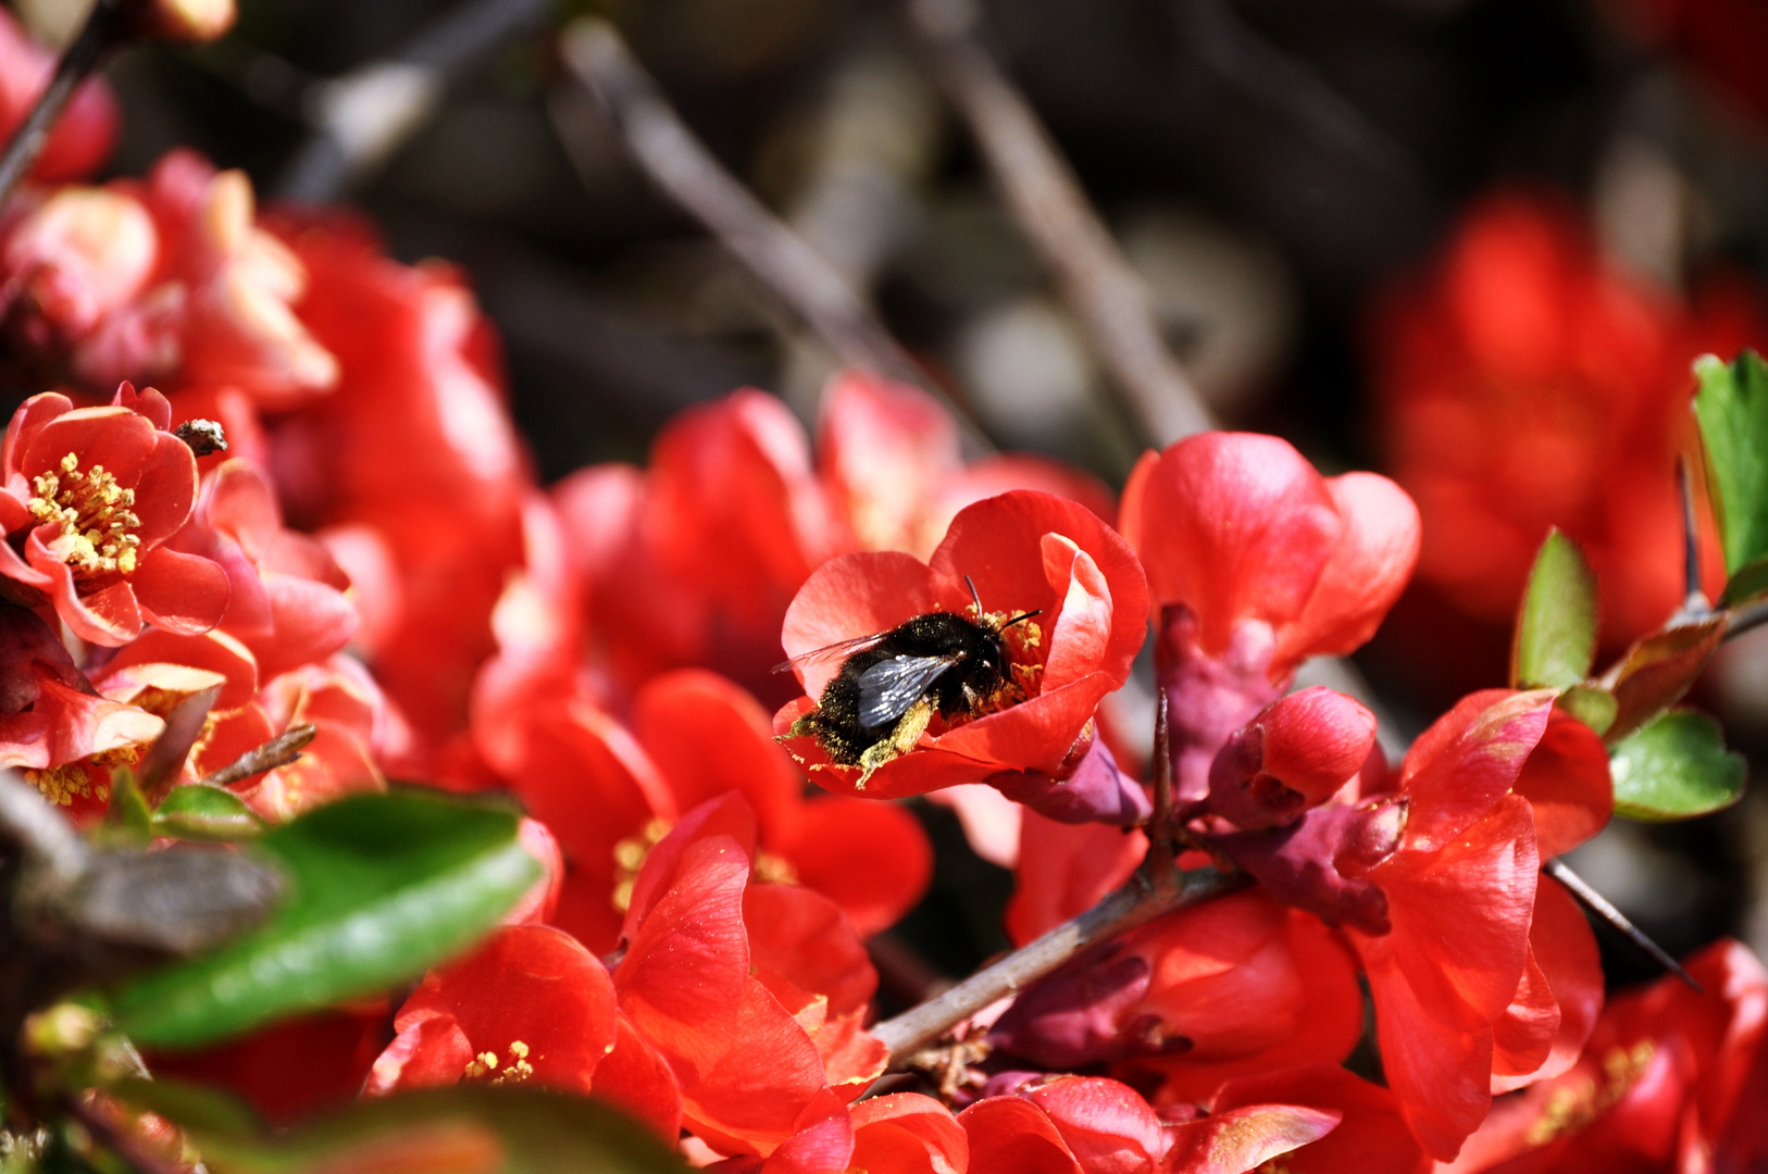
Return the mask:
{"type": "MultiPolygon", "coordinates": [[[[57,41],[81,5],[14,7],[57,41]]],[[[1121,486],[1139,424],[896,0],[242,0],[214,46],[110,62],[110,173],[189,145],[265,202],[347,202],[401,260],[463,267],[543,481],[642,463],[670,414],[739,385],[813,421],[833,352],[560,67],[553,34],[587,12],[995,444],[1121,486]]],[[[1688,362],[1768,341],[1768,7],[1006,0],[978,35],[1215,417],[1420,500],[1418,582],[1360,654],[1402,730],[1503,684],[1551,523],[1591,552],[1611,654],[1676,606],[1688,362]]],[[[1756,637],[1697,702],[1759,764],[1756,637]]],[[[1004,946],[1010,877],[923,815],[941,875],[905,934],[962,972],[1004,946]]],[[[1768,953],[1761,796],[1618,826],[1574,866],[1673,953],[1727,932],[1768,953]]],[[[1653,974],[1604,948],[1618,981],[1653,974]]]]}

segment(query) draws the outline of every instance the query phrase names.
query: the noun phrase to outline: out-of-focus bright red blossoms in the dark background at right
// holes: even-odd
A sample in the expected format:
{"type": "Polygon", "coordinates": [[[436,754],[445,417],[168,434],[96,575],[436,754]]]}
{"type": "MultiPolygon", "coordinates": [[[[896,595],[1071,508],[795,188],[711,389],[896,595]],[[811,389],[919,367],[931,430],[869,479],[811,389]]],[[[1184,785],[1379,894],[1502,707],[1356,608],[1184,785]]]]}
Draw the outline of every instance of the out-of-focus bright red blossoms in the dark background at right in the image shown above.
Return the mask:
{"type": "MultiPolygon", "coordinates": [[[[1390,461],[1425,518],[1404,640],[1430,675],[1453,668],[1455,617],[1478,624],[1467,644],[1478,635],[1501,667],[1499,629],[1552,525],[1589,555],[1614,645],[1681,603],[1674,467],[1697,460],[1688,366],[1768,339],[1759,292],[1706,294],[1680,306],[1605,265],[1563,202],[1497,193],[1377,306],[1390,461]]],[[[1717,543],[1708,550],[1717,559],[1717,543]]]]}

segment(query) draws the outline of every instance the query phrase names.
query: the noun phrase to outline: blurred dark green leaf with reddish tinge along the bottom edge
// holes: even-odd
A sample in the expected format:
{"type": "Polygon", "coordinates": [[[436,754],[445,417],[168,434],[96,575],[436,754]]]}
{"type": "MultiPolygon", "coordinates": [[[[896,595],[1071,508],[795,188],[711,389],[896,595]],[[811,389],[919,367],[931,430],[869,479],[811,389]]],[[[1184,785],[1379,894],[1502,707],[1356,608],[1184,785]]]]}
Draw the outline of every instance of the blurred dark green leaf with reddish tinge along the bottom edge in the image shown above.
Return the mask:
{"type": "Polygon", "coordinates": [[[688,1163],[612,1105],[527,1087],[458,1084],[362,1102],[271,1133],[161,1082],[118,1096],[177,1123],[217,1174],[686,1174],[688,1163]]]}

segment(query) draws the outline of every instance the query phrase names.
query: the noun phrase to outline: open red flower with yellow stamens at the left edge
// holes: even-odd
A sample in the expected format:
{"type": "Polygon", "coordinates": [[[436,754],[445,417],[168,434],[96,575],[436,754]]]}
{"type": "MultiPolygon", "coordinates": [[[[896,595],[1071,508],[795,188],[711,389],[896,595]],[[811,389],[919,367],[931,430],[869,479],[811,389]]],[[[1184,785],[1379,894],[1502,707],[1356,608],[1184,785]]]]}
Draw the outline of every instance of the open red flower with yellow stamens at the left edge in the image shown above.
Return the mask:
{"type": "Polygon", "coordinates": [[[103,408],[32,396],[7,426],[0,578],[81,640],[126,644],[143,621],[207,631],[226,608],[221,568],[163,545],[196,499],[196,460],[170,423],[164,396],[124,384],[103,408]]]}

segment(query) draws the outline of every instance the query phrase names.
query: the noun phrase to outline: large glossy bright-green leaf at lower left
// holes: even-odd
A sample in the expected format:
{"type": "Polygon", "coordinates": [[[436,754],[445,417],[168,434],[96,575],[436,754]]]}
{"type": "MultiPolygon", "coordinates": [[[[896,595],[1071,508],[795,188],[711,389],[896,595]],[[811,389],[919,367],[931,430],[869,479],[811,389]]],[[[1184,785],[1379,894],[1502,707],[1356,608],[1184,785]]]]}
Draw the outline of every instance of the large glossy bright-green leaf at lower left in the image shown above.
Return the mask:
{"type": "Polygon", "coordinates": [[[117,1025],[136,1043],[198,1047],[423,974],[541,875],[516,822],[407,792],[341,799],[267,833],[248,850],[288,879],[283,905],[216,953],[126,985],[117,1025]]]}

